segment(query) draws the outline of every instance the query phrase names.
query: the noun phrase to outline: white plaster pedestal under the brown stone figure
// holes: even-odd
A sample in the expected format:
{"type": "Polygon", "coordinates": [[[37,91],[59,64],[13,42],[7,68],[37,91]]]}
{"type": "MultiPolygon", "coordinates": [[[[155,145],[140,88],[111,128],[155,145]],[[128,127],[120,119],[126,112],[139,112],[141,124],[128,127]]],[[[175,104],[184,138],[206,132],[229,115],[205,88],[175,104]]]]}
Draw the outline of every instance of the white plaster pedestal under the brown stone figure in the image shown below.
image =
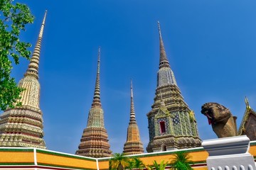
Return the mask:
{"type": "Polygon", "coordinates": [[[256,170],[254,159],[248,152],[249,143],[245,135],[203,141],[202,146],[209,153],[206,159],[208,169],[256,170]]]}

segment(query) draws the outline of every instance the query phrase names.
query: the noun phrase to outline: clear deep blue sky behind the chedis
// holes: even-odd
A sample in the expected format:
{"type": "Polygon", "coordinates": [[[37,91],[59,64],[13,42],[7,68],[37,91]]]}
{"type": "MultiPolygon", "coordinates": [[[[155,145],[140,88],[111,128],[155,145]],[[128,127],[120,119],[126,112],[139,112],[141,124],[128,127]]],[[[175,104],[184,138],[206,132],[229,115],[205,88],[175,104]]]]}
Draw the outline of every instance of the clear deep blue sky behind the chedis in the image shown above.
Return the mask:
{"type": "MultiPolygon", "coordinates": [[[[202,140],[216,137],[201,114],[218,102],[238,116],[244,97],[256,110],[256,1],[76,0],[25,1],[36,20],[21,40],[33,47],[48,10],[39,81],[48,149],[74,154],[92,103],[97,48],[101,47],[101,101],[111,149],[122,152],[129,122],[129,81],[144,147],[159,66],[161,23],[166,54],[178,87],[196,113],[202,140]]],[[[31,48],[33,50],[33,48],[31,48]]],[[[14,67],[19,81],[28,61],[14,67]]]]}

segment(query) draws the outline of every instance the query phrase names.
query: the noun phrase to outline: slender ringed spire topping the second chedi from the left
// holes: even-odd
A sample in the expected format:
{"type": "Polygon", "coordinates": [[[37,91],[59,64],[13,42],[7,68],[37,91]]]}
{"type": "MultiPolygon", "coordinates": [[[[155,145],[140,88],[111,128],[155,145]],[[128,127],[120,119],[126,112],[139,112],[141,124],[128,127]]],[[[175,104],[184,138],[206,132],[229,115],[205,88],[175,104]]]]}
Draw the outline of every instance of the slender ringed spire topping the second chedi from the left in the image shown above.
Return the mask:
{"type": "Polygon", "coordinates": [[[100,103],[100,47],[98,50],[97,75],[96,75],[95,92],[93,96],[92,106],[101,106],[101,103],[100,103]]]}

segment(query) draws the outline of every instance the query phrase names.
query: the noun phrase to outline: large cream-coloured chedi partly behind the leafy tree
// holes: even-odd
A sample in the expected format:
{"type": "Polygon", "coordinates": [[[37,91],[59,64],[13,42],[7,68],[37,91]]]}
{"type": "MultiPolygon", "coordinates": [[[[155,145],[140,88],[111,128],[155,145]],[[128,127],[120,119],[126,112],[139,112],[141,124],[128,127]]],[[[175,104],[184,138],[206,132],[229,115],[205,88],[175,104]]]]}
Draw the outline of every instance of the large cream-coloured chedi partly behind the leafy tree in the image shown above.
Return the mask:
{"type": "Polygon", "coordinates": [[[46,149],[46,144],[43,140],[43,113],[39,106],[40,84],[38,82],[39,57],[46,13],[43,17],[41,30],[28,69],[23,79],[18,83],[18,86],[24,89],[19,100],[22,106],[8,108],[0,116],[1,147],[37,147],[46,149]]]}

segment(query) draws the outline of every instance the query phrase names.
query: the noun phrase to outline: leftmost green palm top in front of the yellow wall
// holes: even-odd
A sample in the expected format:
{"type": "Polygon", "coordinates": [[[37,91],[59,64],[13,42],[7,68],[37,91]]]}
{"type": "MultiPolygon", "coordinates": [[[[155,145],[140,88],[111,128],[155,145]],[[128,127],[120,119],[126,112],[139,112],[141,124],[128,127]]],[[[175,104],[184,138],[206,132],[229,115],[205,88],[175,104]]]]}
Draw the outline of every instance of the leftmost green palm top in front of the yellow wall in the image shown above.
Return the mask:
{"type": "Polygon", "coordinates": [[[114,157],[110,159],[110,169],[123,170],[127,166],[129,166],[129,158],[125,157],[123,153],[115,153],[114,157]]]}

